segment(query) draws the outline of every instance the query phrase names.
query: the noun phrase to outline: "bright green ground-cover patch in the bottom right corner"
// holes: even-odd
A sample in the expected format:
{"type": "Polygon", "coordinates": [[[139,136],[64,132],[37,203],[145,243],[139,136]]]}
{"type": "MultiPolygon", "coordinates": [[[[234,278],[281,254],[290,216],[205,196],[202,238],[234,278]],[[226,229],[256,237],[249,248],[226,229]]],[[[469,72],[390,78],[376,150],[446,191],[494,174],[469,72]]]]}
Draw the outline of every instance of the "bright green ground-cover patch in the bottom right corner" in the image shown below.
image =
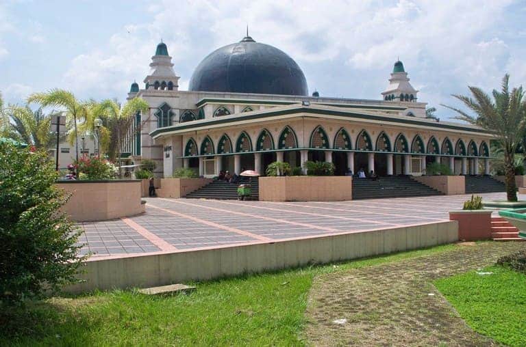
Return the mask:
{"type": "Polygon", "coordinates": [[[509,346],[526,346],[526,275],[490,266],[435,282],[436,287],[478,333],[509,346]]]}

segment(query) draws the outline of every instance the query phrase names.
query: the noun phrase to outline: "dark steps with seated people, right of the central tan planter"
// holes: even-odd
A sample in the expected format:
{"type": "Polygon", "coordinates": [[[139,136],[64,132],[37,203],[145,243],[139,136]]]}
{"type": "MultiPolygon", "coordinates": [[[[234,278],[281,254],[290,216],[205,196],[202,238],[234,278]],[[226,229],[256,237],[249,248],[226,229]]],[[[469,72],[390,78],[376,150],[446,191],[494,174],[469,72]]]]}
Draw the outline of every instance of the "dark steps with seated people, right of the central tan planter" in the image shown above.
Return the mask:
{"type": "Polygon", "coordinates": [[[353,199],[380,199],[384,197],[420,197],[443,195],[408,176],[381,177],[373,181],[368,178],[353,179],[353,199]]]}

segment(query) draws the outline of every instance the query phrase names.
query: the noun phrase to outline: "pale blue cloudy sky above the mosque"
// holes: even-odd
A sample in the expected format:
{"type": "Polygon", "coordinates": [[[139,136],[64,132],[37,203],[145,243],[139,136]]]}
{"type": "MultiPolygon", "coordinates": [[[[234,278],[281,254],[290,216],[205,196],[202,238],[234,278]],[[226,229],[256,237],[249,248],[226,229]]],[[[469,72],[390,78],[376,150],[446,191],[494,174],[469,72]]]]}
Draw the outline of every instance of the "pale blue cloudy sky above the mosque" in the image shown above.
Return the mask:
{"type": "Polygon", "coordinates": [[[250,36],[295,59],[310,93],[381,99],[399,57],[418,100],[442,119],[451,94],[526,85],[526,0],[0,0],[0,92],[68,89],[124,101],[162,39],[188,81],[216,48],[250,36]]]}

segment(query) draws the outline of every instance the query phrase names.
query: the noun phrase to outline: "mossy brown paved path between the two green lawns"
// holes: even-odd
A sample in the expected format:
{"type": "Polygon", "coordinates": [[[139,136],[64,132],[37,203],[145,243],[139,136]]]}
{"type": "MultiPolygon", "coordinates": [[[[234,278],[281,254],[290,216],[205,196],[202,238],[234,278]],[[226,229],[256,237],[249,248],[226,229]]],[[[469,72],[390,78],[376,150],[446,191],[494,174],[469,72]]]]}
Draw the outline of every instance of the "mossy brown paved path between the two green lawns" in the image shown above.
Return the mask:
{"type": "Polygon", "coordinates": [[[305,335],[316,346],[493,346],[466,325],[431,281],[483,268],[521,247],[520,242],[481,242],[316,277],[305,335]]]}

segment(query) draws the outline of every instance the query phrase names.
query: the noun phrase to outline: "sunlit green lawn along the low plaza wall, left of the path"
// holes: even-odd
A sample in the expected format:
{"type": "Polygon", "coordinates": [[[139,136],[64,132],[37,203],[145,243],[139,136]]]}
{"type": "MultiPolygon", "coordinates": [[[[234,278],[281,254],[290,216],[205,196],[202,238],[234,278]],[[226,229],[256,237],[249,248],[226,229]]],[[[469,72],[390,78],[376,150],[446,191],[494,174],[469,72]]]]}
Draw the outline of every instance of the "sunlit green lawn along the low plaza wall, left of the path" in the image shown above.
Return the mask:
{"type": "Polygon", "coordinates": [[[0,346],[303,345],[314,276],[453,249],[445,245],[197,283],[195,292],[174,296],[114,290],[56,297],[0,314],[0,346]]]}

